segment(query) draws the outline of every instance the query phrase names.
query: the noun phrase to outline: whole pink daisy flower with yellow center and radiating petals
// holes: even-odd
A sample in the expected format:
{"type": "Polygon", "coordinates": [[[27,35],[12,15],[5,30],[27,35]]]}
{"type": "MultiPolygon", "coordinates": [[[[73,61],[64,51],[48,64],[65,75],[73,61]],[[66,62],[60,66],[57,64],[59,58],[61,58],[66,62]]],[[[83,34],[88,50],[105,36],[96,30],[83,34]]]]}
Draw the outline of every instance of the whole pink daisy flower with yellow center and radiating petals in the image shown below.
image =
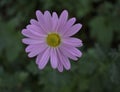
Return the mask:
{"type": "Polygon", "coordinates": [[[37,20],[31,19],[30,24],[22,30],[22,34],[26,36],[22,42],[28,45],[25,49],[28,56],[36,56],[39,69],[43,69],[50,61],[52,68],[60,72],[69,70],[69,59],[77,60],[82,56],[81,51],[76,48],[82,46],[82,41],[71,37],[82,25],[74,24],[75,18],[68,20],[67,10],[64,10],[60,17],[56,12],[51,15],[49,11],[43,14],[37,10],[36,16],[37,20]]]}

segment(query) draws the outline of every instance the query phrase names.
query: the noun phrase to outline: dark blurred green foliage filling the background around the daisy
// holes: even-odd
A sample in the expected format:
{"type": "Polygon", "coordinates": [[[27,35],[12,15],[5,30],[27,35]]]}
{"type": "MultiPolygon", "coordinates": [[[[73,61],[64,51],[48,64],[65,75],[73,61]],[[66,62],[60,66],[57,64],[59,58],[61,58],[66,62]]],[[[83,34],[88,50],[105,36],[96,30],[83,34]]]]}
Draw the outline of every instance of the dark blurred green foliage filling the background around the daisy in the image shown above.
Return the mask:
{"type": "Polygon", "coordinates": [[[0,0],[0,92],[120,92],[120,0],[0,0]],[[40,71],[27,57],[21,30],[37,9],[67,9],[83,24],[70,71],[40,71]]]}

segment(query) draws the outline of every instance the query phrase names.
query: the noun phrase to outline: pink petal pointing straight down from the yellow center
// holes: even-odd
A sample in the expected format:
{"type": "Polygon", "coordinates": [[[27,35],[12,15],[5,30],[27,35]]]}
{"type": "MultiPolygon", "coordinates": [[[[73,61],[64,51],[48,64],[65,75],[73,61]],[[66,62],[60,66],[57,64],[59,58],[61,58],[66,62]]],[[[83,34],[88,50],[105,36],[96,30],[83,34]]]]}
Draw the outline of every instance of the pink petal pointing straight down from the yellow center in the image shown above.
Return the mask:
{"type": "Polygon", "coordinates": [[[50,63],[51,63],[51,66],[52,68],[57,68],[58,66],[58,59],[57,59],[57,53],[56,53],[56,50],[55,48],[51,48],[51,53],[50,53],[50,63]]]}

